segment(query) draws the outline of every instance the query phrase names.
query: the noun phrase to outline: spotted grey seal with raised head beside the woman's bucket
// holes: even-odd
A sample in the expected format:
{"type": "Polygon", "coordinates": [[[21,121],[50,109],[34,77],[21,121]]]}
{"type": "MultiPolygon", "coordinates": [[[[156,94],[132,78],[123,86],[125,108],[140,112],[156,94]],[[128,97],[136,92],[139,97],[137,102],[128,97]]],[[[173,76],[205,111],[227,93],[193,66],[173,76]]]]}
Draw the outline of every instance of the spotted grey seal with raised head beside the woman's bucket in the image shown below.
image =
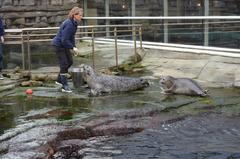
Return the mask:
{"type": "Polygon", "coordinates": [[[149,82],[144,78],[114,76],[97,73],[86,64],[80,65],[83,79],[91,89],[91,95],[102,93],[127,92],[145,88],[149,82]]]}

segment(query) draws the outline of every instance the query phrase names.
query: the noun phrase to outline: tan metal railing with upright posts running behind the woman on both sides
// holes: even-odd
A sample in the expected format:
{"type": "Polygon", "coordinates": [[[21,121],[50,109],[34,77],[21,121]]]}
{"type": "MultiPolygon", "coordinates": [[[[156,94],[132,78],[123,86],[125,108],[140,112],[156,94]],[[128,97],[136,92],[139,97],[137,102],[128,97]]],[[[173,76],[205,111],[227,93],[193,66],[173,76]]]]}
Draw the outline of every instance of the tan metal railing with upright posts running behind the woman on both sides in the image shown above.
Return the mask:
{"type": "MultiPolygon", "coordinates": [[[[92,42],[92,66],[95,67],[95,39],[97,37],[108,37],[115,40],[115,60],[116,66],[118,66],[118,38],[123,34],[131,34],[134,42],[134,53],[137,57],[137,36],[140,40],[140,48],[142,48],[142,25],[92,25],[92,26],[78,26],[76,32],[76,40],[91,39],[92,42]],[[104,28],[104,30],[101,30],[104,28]],[[108,29],[106,29],[108,28],[108,29]],[[130,29],[129,29],[130,28],[130,29]],[[104,35],[102,35],[104,34],[104,35]],[[106,35],[105,35],[106,34],[106,35]],[[112,34],[112,35],[111,35],[112,34]],[[102,36],[101,36],[102,35],[102,36]],[[84,37],[83,37],[84,36],[84,37]]],[[[48,28],[23,28],[23,29],[6,29],[5,44],[19,44],[21,45],[22,52],[22,68],[26,69],[26,58],[27,53],[28,59],[28,70],[31,71],[31,49],[30,44],[34,42],[50,42],[56,35],[59,27],[48,27],[48,28]],[[27,51],[25,50],[27,46],[27,51]]],[[[126,36],[126,35],[125,35],[126,36]]],[[[136,58],[135,58],[136,59],[136,58]]]]}

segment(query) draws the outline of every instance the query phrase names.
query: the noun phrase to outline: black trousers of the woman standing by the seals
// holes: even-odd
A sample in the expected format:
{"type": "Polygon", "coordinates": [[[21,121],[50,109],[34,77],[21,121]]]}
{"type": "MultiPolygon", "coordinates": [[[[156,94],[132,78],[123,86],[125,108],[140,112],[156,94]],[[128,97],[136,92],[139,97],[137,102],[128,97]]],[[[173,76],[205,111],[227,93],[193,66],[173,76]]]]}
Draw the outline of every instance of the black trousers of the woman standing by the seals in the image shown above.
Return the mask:
{"type": "Polygon", "coordinates": [[[54,46],[54,49],[58,57],[60,74],[68,73],[68,69],[73,64],[72,53],[70,52],[70,49],[56,46],[54,46]]]}

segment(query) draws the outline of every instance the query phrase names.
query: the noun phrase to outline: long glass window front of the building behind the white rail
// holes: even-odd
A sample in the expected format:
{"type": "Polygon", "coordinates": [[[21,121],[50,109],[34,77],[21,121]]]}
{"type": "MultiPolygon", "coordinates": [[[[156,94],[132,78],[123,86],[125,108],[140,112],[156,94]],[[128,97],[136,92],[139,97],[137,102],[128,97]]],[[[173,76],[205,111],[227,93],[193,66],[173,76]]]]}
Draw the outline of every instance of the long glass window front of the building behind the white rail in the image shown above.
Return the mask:
{"type": "MultiPolygon", "coordinates": [[[[240,15],[239,0],[85,0],[84,3],[88,17],[240,15]]],[[[113,19],[87,23],[143,24],[144,41],[240,48],[239,20],[113,19]]]]}

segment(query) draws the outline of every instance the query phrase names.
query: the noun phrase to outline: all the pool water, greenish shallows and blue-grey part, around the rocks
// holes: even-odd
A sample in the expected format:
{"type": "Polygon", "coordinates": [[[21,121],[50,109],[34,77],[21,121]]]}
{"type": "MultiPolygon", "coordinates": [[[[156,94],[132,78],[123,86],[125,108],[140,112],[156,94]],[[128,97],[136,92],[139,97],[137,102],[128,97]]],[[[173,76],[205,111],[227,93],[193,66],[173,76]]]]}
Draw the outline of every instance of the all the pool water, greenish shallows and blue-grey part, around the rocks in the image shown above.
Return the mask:
{"type": "Polygon", "coordinates": [[[210,88],[210,96],[207,98],[164,95],[156,83],[144,90],[101,97],[89,97],[85,89],[64,94],[55,87],[34,88],[34,94],[26,96],[25,89],[18,88],[17,93],[0,99],[2,137],[8,132],[17,131],[21,125],[32,124],[35,120],[29,122],[25,120],[26,117],[49,110],[63,109],[67,112],[44,119],[61,123],[101,113],[159,109],[163,110],[160,117],[176,116],[177,119],[182,115],[185,118],[153,124],[140,133],[112,137],[103,145],[114,147],[120,153],[105,152],[100,156],[117,159],[240,158],[239,89],[210,88]]]}

